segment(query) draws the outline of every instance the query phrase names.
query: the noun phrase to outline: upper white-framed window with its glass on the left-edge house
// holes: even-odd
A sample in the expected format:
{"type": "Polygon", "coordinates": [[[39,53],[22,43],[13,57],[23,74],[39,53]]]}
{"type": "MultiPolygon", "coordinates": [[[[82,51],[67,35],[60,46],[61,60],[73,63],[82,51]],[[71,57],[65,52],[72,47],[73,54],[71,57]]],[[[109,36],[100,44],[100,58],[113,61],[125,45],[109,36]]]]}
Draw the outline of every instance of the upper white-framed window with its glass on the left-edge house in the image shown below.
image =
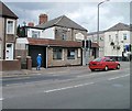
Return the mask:
{"type": "Polygon", "coordinates": [[[8,19],[7,20],[7,34],[14,34],[14,21],[8,19]]]}

